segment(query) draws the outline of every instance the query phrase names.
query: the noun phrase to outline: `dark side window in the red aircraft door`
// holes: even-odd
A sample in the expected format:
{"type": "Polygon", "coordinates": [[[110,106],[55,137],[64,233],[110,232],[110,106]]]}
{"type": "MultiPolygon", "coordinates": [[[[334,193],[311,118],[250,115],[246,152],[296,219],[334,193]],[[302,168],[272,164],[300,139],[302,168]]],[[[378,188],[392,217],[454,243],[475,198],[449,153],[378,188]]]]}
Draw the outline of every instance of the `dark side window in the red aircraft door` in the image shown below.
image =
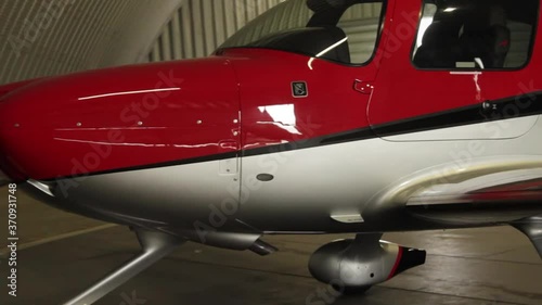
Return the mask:
{"type": "Polygon", "coordinates": [[[412,61],[420,68],[505,69],[532,52],[538,0],[425,0],[412,61]]]}

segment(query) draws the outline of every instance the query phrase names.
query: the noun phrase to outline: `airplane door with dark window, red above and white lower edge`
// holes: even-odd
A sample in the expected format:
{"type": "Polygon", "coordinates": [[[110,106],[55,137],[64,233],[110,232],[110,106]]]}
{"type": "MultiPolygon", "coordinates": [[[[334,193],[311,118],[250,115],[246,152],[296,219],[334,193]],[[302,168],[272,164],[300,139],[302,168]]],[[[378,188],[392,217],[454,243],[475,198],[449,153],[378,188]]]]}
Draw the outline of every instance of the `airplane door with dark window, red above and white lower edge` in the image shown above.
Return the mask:
{"type": "Polygon", "coordinates": [[[504,107],[529,93],[519,87],[521,79],[533,79],[533,71],[520,68],[532,48],[538,1],[396,5],[402,13],[390,28],[389,58],[369,107],[378,136],[390,141],[511,139],[533,127],[537,116],[506,117],[504,107]],[[505,128],[501,118],[511,118],[505,128]]]}

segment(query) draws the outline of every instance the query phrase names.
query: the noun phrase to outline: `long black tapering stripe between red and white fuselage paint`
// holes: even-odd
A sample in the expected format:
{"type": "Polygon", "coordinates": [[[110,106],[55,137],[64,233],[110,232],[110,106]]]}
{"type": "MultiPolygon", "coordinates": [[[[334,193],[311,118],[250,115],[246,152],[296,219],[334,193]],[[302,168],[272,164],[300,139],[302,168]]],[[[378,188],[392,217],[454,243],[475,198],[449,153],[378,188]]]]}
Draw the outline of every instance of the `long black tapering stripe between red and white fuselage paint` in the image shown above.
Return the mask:
{"type": "MultiPolygon", "coordinates": [[[[364,127],[349,131],[322,136],[318,138],[298,140],[284,144],[274,144],[264,148],[248,149],[242,151],[241,156],[271,154],[284,151],[293,151],[293,150],[332,145],[345,142],[362,141],[367,139],[374,139],[377,137],[399,136],[399,135],[406,135],[406,134],[428,131],[428,130],[438,130],[450,127],[467,126],[467,125],[480,124],[493,120],[539,115],[542,114],[542,91],[512,97],[512,98],[505,98],[495,101],[487,101],[487,103],[489,107],[486,109],[483,107],[482,103],[479,103],[476,105],[454,109],[451,111],[444,111],[430,115],[417,116],[413,118],[377,125],[373,126],[372,128],[364,127]]],[[[186,165],[186,164],[232,158],[238,155],[240,155],[238,153],[215,154],[215,155],[180,160],[173,162],[157,163],[157,164],[143,165],[129,168],[119,168],[107,171],[90,173],[80,176],[95,176],[103,174],[186,165]]],[[[62,177],[50,180],[75,178],[75,177],[79,176],[62,177]]]]}

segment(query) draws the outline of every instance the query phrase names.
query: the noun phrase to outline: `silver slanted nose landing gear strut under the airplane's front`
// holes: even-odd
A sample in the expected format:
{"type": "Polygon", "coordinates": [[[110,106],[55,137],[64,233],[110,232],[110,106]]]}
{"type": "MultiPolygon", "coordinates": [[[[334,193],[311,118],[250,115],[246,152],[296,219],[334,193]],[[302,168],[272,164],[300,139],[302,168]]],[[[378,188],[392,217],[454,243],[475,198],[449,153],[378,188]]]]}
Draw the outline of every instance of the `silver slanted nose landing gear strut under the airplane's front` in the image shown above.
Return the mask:
{"type": "Polygon", "coordinates": [[[91,288],[64,303],[64,305],[92,304],[112,292],[122,283],[127,282],[139,272],[145,270],[164,256],[171,253],[178,245],[185,240],[177,237],[142,229],[136,229],[136,234],[141,244],[142,252],[127,262],[125,265],[98,281],[91,288]]]}

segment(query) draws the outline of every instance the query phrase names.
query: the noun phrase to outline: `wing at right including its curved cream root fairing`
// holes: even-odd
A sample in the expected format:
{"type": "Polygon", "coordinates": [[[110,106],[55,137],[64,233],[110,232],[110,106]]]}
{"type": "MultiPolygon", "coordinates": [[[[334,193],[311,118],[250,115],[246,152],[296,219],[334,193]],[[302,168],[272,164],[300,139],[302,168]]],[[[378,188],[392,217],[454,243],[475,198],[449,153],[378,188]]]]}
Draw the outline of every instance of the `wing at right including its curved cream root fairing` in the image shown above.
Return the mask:
{"type": "Polygon", "coordinates": [[[447,164],[399,181],[380,200],[436,223],[508,224],[542,215],[542,158],[447,164]]]}

